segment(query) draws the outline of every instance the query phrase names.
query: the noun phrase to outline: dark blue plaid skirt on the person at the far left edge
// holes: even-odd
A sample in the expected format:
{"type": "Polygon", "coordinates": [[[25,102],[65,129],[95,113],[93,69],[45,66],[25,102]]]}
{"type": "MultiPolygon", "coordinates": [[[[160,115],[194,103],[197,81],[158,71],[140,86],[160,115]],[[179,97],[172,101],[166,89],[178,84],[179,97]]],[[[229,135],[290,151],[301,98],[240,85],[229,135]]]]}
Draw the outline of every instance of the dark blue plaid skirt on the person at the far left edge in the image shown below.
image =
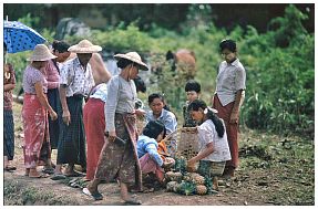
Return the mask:
{"type": "Polygon", "coordinates": [[[14,156],[14,123],[12,109],[3,109],[3,150],[9,160],[14,156]]]}

